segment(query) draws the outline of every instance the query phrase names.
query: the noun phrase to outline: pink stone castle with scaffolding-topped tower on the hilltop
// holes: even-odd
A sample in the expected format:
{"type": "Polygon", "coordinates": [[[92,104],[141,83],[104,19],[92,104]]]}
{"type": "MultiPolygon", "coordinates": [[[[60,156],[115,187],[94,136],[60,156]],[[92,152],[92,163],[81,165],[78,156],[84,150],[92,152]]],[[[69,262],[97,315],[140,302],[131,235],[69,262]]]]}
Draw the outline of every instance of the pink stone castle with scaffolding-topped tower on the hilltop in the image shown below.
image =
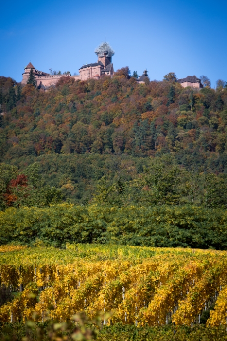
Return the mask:
{"type": "Polygon", "coordinates": [[[37,81],[37,85],[42,84],[42,87],[46,88],[51,85],[57,83],[60,77],[67,76],[74,78],[75,80],[81,79],[86,80],[88,78],[99,79],[100,77],[113,76],[114,69],[112,63],[112,56],[114,55],[113,49],[109,46],[108,43],[104,42],[99,45],[99,47],[95,50],[96,55],[98,56],[97,63],[85,64],[81,66],[79,69],[79,75],[70,76],[70,74],[64,75],[51,75],[47,74],[43,71],[38,71],[30,62],[25,68],[24,73],[22,74],[23,79],[21,81],[22,84],[26,84],[29,78],[29,74],[31,69],[33,69],[35,79],[37,81]]]}

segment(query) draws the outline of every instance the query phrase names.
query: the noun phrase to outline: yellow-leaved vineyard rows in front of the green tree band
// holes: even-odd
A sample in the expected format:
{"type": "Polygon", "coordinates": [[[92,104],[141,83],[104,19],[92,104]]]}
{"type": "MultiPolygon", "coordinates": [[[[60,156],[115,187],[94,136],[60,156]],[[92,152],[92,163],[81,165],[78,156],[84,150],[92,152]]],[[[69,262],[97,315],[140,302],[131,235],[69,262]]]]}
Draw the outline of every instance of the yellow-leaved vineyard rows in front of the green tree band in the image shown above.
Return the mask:
{"type": "Polygon", "coordinates": [[[193,327],[227,324],[227,252],[190,248],[67,245],[0,247],[1,322],[70,321],[111,312],[103,323],[193,327]],[[35,314],[35,315],[34,315],[35,314]]]}

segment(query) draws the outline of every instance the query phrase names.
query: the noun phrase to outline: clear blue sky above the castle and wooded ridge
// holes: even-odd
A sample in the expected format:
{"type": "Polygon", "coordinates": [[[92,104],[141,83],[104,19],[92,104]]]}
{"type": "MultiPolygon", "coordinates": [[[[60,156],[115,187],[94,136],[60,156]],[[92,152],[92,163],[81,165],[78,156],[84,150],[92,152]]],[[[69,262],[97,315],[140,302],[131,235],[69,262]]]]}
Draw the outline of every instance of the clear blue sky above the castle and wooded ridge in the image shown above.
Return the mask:
{"type": "Polygon", "coordinates": [[[29,61],[73,74],[106,40],[115,70],[227,81],[227,0],[11,0],[0,14],[0,76],[21,81],[29,61]]]}

